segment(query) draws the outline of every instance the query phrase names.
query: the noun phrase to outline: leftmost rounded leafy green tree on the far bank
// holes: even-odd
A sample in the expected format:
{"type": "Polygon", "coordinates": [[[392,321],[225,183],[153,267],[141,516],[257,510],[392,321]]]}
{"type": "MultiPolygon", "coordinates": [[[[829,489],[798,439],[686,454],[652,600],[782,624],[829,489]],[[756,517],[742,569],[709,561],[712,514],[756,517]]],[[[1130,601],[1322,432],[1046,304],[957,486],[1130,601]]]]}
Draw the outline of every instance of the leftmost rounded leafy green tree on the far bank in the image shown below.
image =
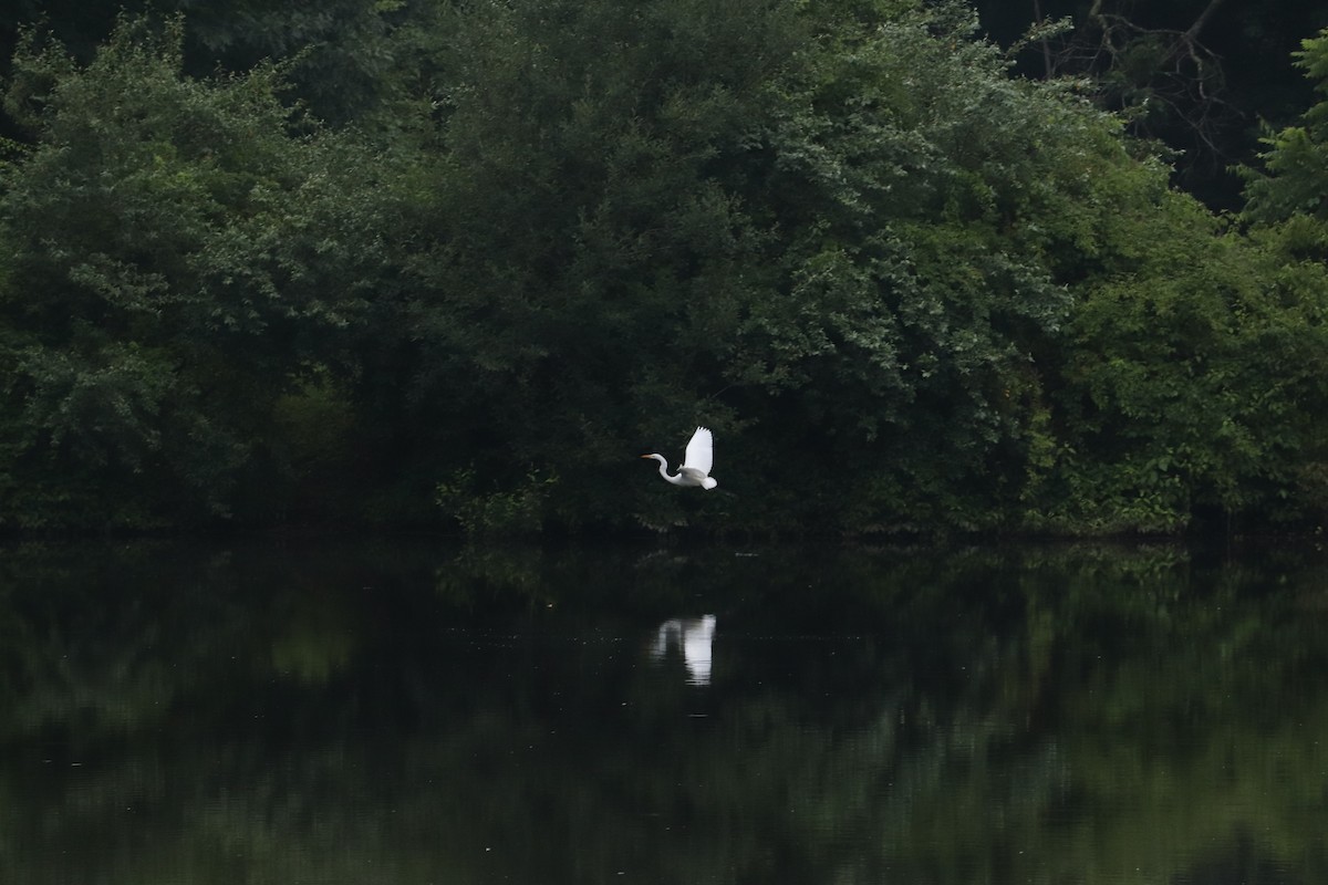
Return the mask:
{"type": "Polygon", "coordinates": [[[12,110],[37,133],[3,195],[20,525],[260,507],[246,483],[299,444],[283,397],[317,382],[369,284],[348,149],[290,131],[271,69],[182,77],[178,42],[178,23],[126,24],[86,68],[31,42],[17,60],[12,110]]]}

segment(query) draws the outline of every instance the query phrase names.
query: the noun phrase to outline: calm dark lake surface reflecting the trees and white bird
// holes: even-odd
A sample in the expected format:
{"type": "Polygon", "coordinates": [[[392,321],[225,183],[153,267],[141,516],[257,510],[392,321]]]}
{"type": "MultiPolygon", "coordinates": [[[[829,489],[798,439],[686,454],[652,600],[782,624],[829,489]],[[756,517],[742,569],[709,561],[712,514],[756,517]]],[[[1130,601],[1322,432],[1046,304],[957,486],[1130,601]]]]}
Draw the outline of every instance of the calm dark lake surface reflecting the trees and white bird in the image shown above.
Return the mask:
{"type": "Polygon", "coordinates": [[[1328,881],[1311,548],[0,557],[0,882],[1328,881]]]}

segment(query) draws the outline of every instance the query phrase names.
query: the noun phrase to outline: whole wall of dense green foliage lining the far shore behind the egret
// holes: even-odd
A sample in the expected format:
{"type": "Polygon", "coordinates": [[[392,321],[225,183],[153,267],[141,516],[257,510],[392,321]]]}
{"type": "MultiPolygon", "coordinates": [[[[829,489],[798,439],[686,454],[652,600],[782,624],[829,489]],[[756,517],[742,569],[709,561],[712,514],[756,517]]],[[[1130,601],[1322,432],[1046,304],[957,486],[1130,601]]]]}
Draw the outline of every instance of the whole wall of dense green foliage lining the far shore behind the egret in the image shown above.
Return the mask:
{"type": "Polygon", "coordinates": [[[356,38],[24,32],[0,524],[1317,517],[1328,277],[1268,208],[1316,192],[1292,134],[1238,231],[956,4],[328,16],[356,38]],[[633,458],[696,423],[712,495],[633,458]]]}

